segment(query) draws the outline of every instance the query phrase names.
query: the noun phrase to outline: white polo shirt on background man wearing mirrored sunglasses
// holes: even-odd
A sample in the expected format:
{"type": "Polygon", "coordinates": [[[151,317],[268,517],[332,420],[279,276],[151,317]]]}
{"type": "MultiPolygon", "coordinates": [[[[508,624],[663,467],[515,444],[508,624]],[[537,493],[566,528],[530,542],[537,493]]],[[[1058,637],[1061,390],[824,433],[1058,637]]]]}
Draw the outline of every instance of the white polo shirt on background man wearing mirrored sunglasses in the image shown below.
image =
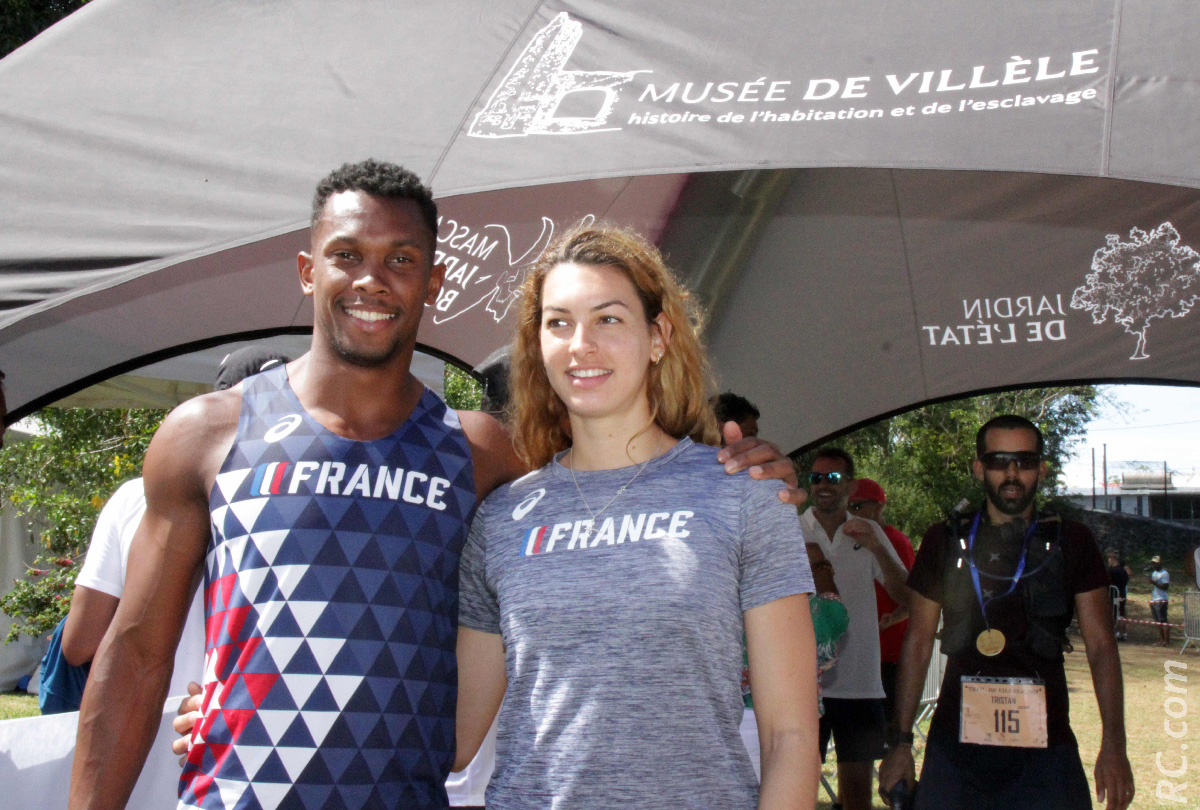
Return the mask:
{"type": "MultiPolygon", "coordinates": [[[[846,512],[846,520],[854,516],[846,512]]],[[[901,565],[888,535],[875,521],[866,521],[887,554],[901,565]]],[[[850,626],[841,638],[838,661],[821,676],[821,696],[840,698],[883,697],[880,679],[880,623],[875,607],[875,582],[883,583],[883,569],[875,554],[847,536],[839,526],[833,540],[810,506],[800,515],[804,539],[816,542],[833,563],[833,578],[850,613],[850,626]]],[[[845,523],[842,524],[845,526],[845,523]]]]}

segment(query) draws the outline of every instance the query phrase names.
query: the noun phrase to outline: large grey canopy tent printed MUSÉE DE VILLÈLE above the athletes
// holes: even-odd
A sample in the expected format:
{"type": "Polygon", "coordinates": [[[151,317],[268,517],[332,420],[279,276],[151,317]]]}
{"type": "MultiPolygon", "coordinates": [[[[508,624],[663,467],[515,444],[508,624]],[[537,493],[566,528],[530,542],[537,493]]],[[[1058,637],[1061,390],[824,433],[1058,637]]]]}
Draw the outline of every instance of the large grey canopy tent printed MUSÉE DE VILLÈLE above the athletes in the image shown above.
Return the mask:
{"type": "Polygon", "coordinates": [[[508,340],[583,216],[660,241],[725,388],[794,448],[1000,386],[1200,383],[1193,4],[92,0],[0,61],[16,415],[311,324],[294,256],[347,160],[431,182],[421,340],[508,340]]]}

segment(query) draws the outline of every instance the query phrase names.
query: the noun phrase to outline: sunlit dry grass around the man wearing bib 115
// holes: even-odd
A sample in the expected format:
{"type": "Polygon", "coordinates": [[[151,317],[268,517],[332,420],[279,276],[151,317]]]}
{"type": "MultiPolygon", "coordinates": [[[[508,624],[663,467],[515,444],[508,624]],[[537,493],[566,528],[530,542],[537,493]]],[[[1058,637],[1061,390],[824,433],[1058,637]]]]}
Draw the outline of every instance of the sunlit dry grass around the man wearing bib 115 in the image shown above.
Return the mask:
{"type": "MultiPolygon", "coordinates": [[[[1177,593],[1182,593],[1188,586],[1188,578],[1183,571],[1171,570],[1171,595],[1169,618],[1171,622],[1183,623],[1182,599],[1177,593]]],[[[1128,618],[1150,619],[1150,583],[1139,582],[1145,580],[1141,570],[1134,568],[1133,581],[1129,587],[1128,618]]],[[[1180,629],[1171,631],[1171,646],[1154,647],[1158,640],[1158,629],[1151,625],[1127,625],[1129,641],[1118,644],[1121,650],[1121,668],[1124,673],[1124,715],[1127,750],[1129,764],[1133,767],[1134,786],[1138,794],[1134,797],[1133,808],[1138,810],[1166,810],[1168,808],[1195,808],[1200,806],[1200,704],[1198,714],[1193,715],[1192,706],[1196,704],[1196,698],[1192,697],[1192,691],[1200,689],[1200,650],[1195,644],[1190,646],[1186,653],[1180,655],[1180,647],[1183,646],[1183,635],[1180,629]],[[1176,680],[1177,686],[1188,688],[1187,695],[1169,692],[1165,689],[1163,677],[1165,674],[1166,661],[1181,661],[1186,670],[1174,667],[1176,674],[1187,677],[1188,682],[1176,680]],[[1198,684],[1193,686],[1192,684],[1198,684]],[[1166,714],[1164,702],[1169,697],[1177,697],[1187,701],[1187,715],[1174,719],[1166,714]],[[1166,734],[1164,721],[1171,720],[1172,728],[1180,731],[1187,722],[1187,732],[1183,737],[1175,739],[1166,734]],[[1181,748],[1186,745],[1187,748],[1181,748]],[[1193,755],[1193,752],[1195,752],[1193,755]],[[1183,775],[1170,778],[1159,772],[1156,757],[1160,756],[1163,768],[1178,770],[1183,768],[1181,756],[1187,756],[1187,770],[1183,775]],[[1166,798],[1158,798],[1156,788],[1159,780],[1171,781],[1176,785],[1187,782],[1187,787],[1176,792],[1177,798],[1186,798],[1186,802],[1171,802],[1166,798]]],[[[1087,666],[1087,656],[1084,653],[1084,643],[1078,632],[1070,635],[1070,641],[1075,646],[1075,652],[1067,654],[1067,684],[1070,691],[1070,726],[1079,740],[1080,757],[1084,760],[1084,770],[1087,773],[1087,781],[1093,785],[1092,797],[1094,799],[1094,784],[1092,781],[1092,768],[1096,766],[1096,755],[1100,748],[1100,718],[1096,707],[1096,690],[1092,688],[1092,676],[1087,666]]],[[[1172,702],[1170,707],[1175,714],[1181,713],[1181,704],[1172,702]]],[[[922,749],[918,746],[917,773],[920,774],[922,749]]],[[[830,750],[828,762],[823,768],[829,784],[836,790],[836,769],[833,751],[830,750]]],[[[818,794],[817,808],[828,809],[829,797],[822,788],[818,794]]],[[[875,797],[875,806],[886,806],[878,796],[875,797]]],[[[1103,804],[1093,805],[1103,808],[1103,804]]]]}

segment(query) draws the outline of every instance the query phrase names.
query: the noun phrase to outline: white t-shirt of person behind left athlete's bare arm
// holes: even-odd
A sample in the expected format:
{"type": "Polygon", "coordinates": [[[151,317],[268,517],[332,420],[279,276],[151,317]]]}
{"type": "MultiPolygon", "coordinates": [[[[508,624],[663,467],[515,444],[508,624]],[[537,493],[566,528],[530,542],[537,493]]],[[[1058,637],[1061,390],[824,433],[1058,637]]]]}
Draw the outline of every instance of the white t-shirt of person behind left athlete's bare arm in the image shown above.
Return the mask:
{"type": "MultiPolygon", "coordinates": [[[[96,520],[91,533],[88,558],[84,560],[76,584],[121,598],[125,592],[125,571],[130,560],[130,546],[138,530],[142,515],[146,511],[145,490],[142,479],[126,481],[113,493],[96,520]]],[[[204,676],[204,594],[196,590],[196,599],[187,610],[184,635],[175,649],[175,670],[170,676],[168,696],[186,695],[187,682],[200,683],[204,676]]]]}

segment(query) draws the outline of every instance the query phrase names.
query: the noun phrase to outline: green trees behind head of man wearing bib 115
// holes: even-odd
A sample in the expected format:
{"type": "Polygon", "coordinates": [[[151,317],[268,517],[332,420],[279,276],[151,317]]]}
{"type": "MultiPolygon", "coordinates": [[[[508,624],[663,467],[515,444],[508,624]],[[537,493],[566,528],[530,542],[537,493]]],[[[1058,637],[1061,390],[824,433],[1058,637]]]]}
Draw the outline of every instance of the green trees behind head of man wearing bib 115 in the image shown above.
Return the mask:
{"type": "MultiPolygon", "coordinates": [[[[1045,437],[1050,475],[1043,494],[1058,486],[1062,466],[1102,404],[1092,385],[1004,391],[940,402],[863,427],[830,444],[853,457],[858,475],[888,493],[887,520],[919,541],[961,500],[982,503],[983,487],[971,474],[976,431],[998,414],[1032,420],[1045,437]]],[[[802,458],[806,469],[811,452],[802,458]]]]}

